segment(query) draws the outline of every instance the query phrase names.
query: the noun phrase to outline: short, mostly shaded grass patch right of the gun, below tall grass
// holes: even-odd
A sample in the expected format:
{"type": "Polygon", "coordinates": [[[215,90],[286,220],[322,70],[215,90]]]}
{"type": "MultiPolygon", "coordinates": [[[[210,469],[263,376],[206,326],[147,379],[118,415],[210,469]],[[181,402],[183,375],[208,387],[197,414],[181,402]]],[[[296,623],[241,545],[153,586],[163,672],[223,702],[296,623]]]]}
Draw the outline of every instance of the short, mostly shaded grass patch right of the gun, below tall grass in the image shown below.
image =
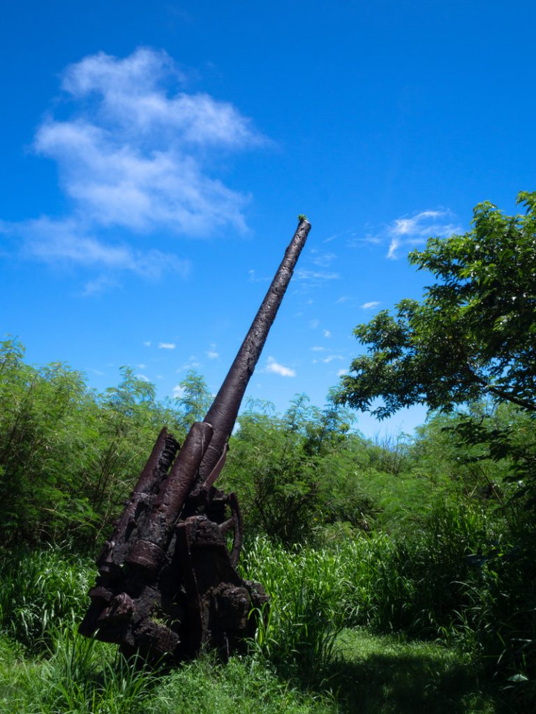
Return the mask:
{"type": "MultiPolygon", "coordinates": [[[[436,643],[347,630],[327,684],[341,714],[495,714],[506,712],[463,655],[436,643]]],[[[325,680],[324,680],[325,684],[325,680]]]]}

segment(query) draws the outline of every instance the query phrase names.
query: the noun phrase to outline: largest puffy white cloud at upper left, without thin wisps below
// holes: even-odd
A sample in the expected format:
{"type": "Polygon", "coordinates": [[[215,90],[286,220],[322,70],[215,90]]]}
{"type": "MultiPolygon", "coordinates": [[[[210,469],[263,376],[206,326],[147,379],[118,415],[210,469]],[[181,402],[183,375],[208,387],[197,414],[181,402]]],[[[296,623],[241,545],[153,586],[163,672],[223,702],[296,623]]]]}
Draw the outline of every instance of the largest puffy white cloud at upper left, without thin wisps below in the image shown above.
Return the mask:
{"type": "Polygon", "coordinates": [[[124,59],[101,52],[66,69],[62,87],[81,111],[46,119],[35,147],[58,162],[85,216],[135,231],[244,228],[245,196],[204,171],[199,147],[238,149],[263,139],[231,104],[167,91],[177,79],[172,59],[151,49],[124,59]]]}

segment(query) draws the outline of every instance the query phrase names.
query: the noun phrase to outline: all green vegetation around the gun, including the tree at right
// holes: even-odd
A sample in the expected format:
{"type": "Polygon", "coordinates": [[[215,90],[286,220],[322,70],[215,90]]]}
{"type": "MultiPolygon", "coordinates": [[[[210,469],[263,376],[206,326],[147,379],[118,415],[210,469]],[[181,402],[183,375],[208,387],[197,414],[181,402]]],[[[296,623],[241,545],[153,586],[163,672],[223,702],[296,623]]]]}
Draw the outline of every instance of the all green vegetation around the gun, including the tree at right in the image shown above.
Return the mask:
{"type": "Polygon", "coordinates": [[[29,366],[18,341],[1,343],[0,710],[532,712],[534,198],[522,196],[523,217],[482,204],[474,232],[414,254],[439,281],[397,318],[357,328],[371,351],[324,409],[299,395],[282,415],[249,403],[239,417],[220,481],[244,512],[241,567],[272,603],[227,665],[207,654],[172,673],[132,668],[76,635],[92,556],[162,425],[180,439],[202,417],[203,378],[189,373],[181,398],[160,402],[124,368],[96,393],[67,366],[29,366]],[[522,300],[503,300],[508,289],[522,300]],[[445,355],[462,348],[456,376],[445,355]],[[377,396],[380,415],[412,401],[436,411],[414,438],[369,440],[342,402],[377,409],[377,396]]]}

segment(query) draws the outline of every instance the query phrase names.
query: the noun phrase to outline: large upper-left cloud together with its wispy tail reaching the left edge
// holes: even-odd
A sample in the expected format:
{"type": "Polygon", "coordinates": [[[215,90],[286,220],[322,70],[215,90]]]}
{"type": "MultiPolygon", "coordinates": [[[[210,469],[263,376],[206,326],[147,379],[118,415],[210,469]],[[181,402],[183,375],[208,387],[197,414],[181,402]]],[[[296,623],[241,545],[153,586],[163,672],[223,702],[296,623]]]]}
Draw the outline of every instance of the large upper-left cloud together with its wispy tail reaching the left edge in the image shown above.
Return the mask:
{"type": "Polygon", "coordinates": [[[47,115],[34,149],[56,161],[71,210],[0,223],[26,257],[101,271],[86,286],[91,294],[122,271],[186,275],[184,258],[134,248],[134,238],[202,235],[226,225],[244,230],[248,197],[212,176],[214,152],[265,139],[232,104],[181,91],[182,79],[165,52],[144,48],[125,58],[100,52],[66,68],[61,89],[71,114],[47,115]]]}

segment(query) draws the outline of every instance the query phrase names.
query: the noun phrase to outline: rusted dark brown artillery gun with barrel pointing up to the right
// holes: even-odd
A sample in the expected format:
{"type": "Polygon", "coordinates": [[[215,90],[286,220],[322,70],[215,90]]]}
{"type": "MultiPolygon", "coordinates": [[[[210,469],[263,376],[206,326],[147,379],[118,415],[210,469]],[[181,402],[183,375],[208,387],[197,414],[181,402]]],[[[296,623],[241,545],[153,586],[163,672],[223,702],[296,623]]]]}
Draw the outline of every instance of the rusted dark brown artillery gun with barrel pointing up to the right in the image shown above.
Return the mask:
{"type": "Polygon", "coordinates": [[[269,328],[302,251],[299,225],[262,305],[204,421],[182,447],[164,428],[116,529],[97,560],[99,575],[79,631],[124,653],[184,660],[203,646],[228,657],[254,634],[268,596],[242,580],[237,496],[214,487],[229,436],[269,328]]]}

